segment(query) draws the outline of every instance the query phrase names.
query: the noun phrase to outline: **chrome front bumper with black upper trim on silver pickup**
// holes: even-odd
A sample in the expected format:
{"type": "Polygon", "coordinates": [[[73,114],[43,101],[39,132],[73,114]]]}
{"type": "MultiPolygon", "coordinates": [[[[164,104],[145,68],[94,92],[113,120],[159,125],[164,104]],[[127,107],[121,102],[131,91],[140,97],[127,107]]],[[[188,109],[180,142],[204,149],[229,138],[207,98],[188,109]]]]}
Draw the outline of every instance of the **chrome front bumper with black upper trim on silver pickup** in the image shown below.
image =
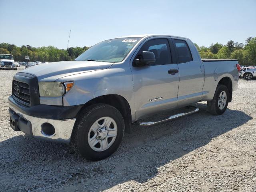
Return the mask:
{"type": "Polygon", "coordinates": [[[18,104],[12,96],[8,98],[11,127],[34,138],[69,143],[76,121],[76,114],[82,106],[44,106],[26,107],[18,104]],[[48,110],[46,110],[48,108],[48,110]],[[34,111],[34,113],[33,113],[34,111]],[[59,112],[58,112],[59,111],[59,112]],[[64,114],[63,114],[63,111],[64,114]],[[31,115],[34,114],[34,115],[31,115]],[[56,116],[56,113],[59,116],[56,116]],[[72,114],[72,116],[70,116],[72,114]],[[52,118],[48,118],[52,116],[52,118]],[[59,117],[65,119],[59,119],[59,117]],[[72,118],[70,118],[72,117],[72,118]],[[43,131],[43,124],[51,124],[54,133],[49,135],[43,131]]]}

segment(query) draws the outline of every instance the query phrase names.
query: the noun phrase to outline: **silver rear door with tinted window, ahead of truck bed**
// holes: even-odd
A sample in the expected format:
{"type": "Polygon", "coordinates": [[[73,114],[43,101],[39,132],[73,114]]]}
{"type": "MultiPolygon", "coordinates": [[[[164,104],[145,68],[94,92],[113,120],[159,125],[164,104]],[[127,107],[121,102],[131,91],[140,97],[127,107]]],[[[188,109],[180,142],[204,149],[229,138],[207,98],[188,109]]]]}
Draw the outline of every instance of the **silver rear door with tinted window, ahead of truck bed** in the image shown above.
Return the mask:
{"type": "Polygon", "coordinates": [[[202,97],[204,67],[192,41],[172,38],[179,68],[178,106],[196,103],[202,97]]]}

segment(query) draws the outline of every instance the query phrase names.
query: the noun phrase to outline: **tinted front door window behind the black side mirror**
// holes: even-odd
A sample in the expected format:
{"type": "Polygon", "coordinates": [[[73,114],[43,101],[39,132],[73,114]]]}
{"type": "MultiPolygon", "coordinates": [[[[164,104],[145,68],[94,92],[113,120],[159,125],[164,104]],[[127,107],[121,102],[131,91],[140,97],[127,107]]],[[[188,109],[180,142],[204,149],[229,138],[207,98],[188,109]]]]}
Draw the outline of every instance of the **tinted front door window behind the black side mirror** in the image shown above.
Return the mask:
{"type": "Polygon", "coordinates": [[[150,65],[171,64],[170,46],[167,39],[148,40],[137,54],[136,58],[140,58],[142,51],[150,51],[155,54],[156,62],[150,65]]]}

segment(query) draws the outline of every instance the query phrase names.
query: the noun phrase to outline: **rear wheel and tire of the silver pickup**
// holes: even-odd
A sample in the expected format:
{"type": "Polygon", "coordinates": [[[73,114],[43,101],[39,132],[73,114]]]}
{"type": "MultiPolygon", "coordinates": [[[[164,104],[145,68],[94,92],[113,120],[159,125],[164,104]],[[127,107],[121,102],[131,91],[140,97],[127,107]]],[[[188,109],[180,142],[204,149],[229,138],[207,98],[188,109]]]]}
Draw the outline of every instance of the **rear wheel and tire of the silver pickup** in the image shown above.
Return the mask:
{"type": "Polygon", "coordinates": [[[230,97],[230,93],[228,91],[228,88],[225,85],[218,85],[212,101],[207,102],[208,111],[214,115],[223,114],[228,107],[228,101],[230,99],[229,97],[230,97]],[[226,93],[226,96],[224,93],[226,93]],[[225,96],[225,100],[226,100],[225,105],[223,105],[224,99],[220,98],[220,94],[222,94],[222,97],[225,96]]]}

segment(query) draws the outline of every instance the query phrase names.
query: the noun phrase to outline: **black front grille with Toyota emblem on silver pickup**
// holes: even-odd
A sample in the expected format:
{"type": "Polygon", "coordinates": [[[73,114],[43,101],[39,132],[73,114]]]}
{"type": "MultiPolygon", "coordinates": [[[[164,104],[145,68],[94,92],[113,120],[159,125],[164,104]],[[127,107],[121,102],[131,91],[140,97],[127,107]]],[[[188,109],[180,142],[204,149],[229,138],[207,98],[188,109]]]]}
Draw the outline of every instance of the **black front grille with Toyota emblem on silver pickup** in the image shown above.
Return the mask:
{"type": "Polygon", "coordinates": [[[19,100],[30,104],[30,91],[27,83],[12,81],[12,95],[19,100]]]}

